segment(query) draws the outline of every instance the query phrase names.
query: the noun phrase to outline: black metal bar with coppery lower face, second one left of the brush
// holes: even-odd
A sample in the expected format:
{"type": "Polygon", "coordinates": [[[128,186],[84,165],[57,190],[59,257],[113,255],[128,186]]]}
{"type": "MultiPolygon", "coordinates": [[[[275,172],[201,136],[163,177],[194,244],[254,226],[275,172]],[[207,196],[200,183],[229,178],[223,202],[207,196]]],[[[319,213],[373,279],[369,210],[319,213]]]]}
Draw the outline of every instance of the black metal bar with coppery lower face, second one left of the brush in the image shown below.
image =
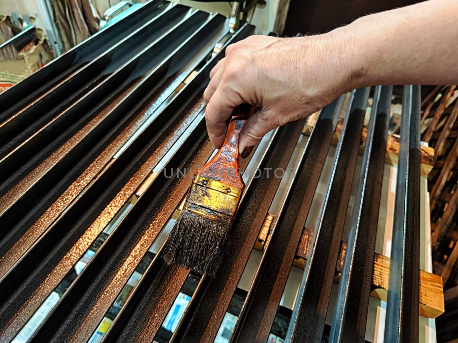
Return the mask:
{"type": "MultiPolygon", "coordinates": [[[[245,25],[242,29],[240,29],[239,32],[234,34],[233,38],[230,40],[230,43],[243,39],[250,35],[252,32],[253,27],[245,25]]],[[[208,35],[208,32],[205,33],[208,35]]],[[[205,55],[210,52],[212,46],[212,43],[207,43],[207,51],[205,55]]],[[[186,52],[186,50],[182,51],[183,54],[186,52]]],[[[224,51],[222,54],[224,54],[224,51]]],[[[113,218],[116,209],[119,209],[120,206],[124,204],[127,198],[129,198],[130,194],[135,191],[136,187],[140,185],[142,180],[150,173],[155,164],[157,164],[157,162],[154,161],[159,161],[161,158],[161,155],[153,155],[149,157],[144,166],[142,166],[141,163],[142,159],[144,158],[142,156],[148,156],[148,151],[149,153],[151,153],[151,151],[160,152],[162,149],[164,151],[163,154],[167,152],[167,150],[164,149],[170,147],[172,141],[171,139],[178,139],[177,133],[181,128],[174,126],[176,125],[177,120],[182,122],[180,125],[184,125],[184,128],[189,126],[187,119],[183,118],[180,113],[183,111],[183,108],[187,108],[187,103],[192,103],[195,101],[199,92],[203,92],[205,86],[208,83],[208,72],[211,70],[214,64],[216,64],[216,62],[217,59],[212,59],[204,67],[202,67],[197,75],[195,75],[195,77],[191,80],[191,82],[187,83],[184,87],[181,88],[173,100],[165,101],[159,107],[157,107],[156,104],[153,104],[152,108],[146,109],[146,113],[148,113],[150,119],[153,118],[153,120],[148,119],[144,123],[143,126],[146,125],[145,128],[140,128],[142,133],[136,136],[136,138],[129,143],[127,148],[123,150],[120,155],[112,159],[109,165],[104,167],[103,173],[98,174],[95,182],[91,183],[90,187],[86,188],[84,192],[78,196],[77,201],[72,203],[71,207],[67,208],[65,213],[60,216],[49,229],[45,231],[44,235],[42,235],[38,242],[34,244],[34,250],[27,252],[27,254],[24,255],[18,263],[16,263],[18,268],[12,269],[3,277],[3,279],[1,279],[1,282],[8,284],[16,280],[14,282],[20,282],[23,285],[23,287],[19,287],[19,285],[17,285],[15,290],[19,288],[22,288],[22,290],[19,293],[16,292],[14,296],[4,294],[4,299],[6,301],[6,304],[4,304],[3,307],[5,320],[12,318],[13,313],[16,311],[17,313],[22,313],[21,316],[14,316],[16,321],[21,322],[24,317],[30,317],[32,315],[34,309],[36,309],[36,307],[33,306],[36,306],[37,301],[39,301],[39,299],[42,299],[41,301],[43,301],[54,289],[54,287],[57,286],[61,278],[68,271],[68,268],[71,268],[72,264],[68,265],[66,260],[74,260],[76,254],[81,256],[85,251],[85,249],[81,249],[81,247],[77,245],[87,245],[90,244],[93,239],[95,239],[95,237],[98,235],[98,232],[100,232],[104,227],[102,223],[108,223],[108,221],[113,218]],[[159,113],[160,115],[151,115],[151,112],[159,113]],[[164,126],[164,121],[165,123],[168,123],[167,129],[161,129],[164,126]],[[134,176],[131,176],[132,171],[137,171],[134,176]],[[111,202],[109,202],[113,195],[116,194],[118,189],[122,187],[124,182],[129,179],[131,179],[131,181],[129,181],[120,190],[118,195],[116,195],[116,197],[113,198],[111,202]],[[134,188],[131,187],[132,183],[136,184],[134,188]],[[121,198],[124,198],[124,200],[121,200],[121,198]],[[107,207],[104,209],[105,204],[107,204],[107,207]],[[82,215],[82,212],[87,213],[87,216],[82,215]],[[97,215],[98,213],[100,213],[100,216],[93,220],[94,214],[97,215]],[[93,224],[84,233],[84,229],[92,221],[93,224]],[[82,233],[83,236],[81,236],[82,233]],[[75,243],[75,246],[71,247],[74,240],[79,236],[81,236],[80,240],[75,243]],[[56,242],[56,240],[58,241],[56,242]],[[49,247],[53,246],[55,248],[53,248],[53,251],[49,252],[49,247]],[[62,260],[60,260],[60,257],[62,257],[65,252],[67,252],[67,254],[62,260]],[[58,265],[55,264],[56,262],[59,262],[58,265]],[[35,271],[33,266],[37,263],[40,263],[40,266],[37,267],[37,270],[35,271]],[[56,266],[55,270],[52,270],[53,266],[56,266]],[[27,278],[21,275],[21,273],[26,272],[31,273],[27,278]],[[49,276],[46,277],[48,273],[49,276]],[[38,284],[42,282],[45,277],[48,279],[48,282],[38,287],[38,284]],[[10,281],[7,281],[8,279],[10,279],[10,281]],[[52,279],[52,281],[49,281],[49,279],[52,279]],[[33,294],[31,294],[32,292],[33,294]],[[30,298],[27,300],[29,295],[30,298]],[[21,307],[21,304],[25,305],[21,307]],[[9,312],[11,312],[11,316],[7,315],[9,312]]],[[[186,62],[183,63],[186,64],[186,62]]],[[[169,71],[173,70],[175,69],[169,69],[169,71]]],[[[172,91],[173,90],[174,88],[172,88],[172,91]]],[[[164,99],[162,99],[162,101],[164,101],[164,99]]],[[[198,103],[203,104],[203,101],[199,100],[198,103]]],[[[202,107],[200,108],[202,109],[202,107]]],[[[193,109],[193,111],[195,111],[195,109],[193,109]]],[[[202,123],[202,117],[200,120],[202,123]]],[[[200,132],[200,129],[202,129],[201,124],[198,129],[196,129],[197,132],[200,132]]],[[[148,246],[149,245],[150,244],[148,244],[148,246]]],[[[79,258],[79,256],[77,256],[76,259],[79,258]]],[[[73,263],[75,262],[76,260],[74,260],[73,263]]],[[[9,291],[15,290],[9,288],[9,291]]],[[[20,324],[17,325],[14,321],[10,324],[11,325],[9,327],[11,327],[11,330],[8,327],[5,330],[10,330],[12,332],[11,336],[14,337],[14,332],[17,332],[17,327],[20,328],[20,324]]],[[[2,337],[5,337],[4,333],[2,334],[2,337]]]]}

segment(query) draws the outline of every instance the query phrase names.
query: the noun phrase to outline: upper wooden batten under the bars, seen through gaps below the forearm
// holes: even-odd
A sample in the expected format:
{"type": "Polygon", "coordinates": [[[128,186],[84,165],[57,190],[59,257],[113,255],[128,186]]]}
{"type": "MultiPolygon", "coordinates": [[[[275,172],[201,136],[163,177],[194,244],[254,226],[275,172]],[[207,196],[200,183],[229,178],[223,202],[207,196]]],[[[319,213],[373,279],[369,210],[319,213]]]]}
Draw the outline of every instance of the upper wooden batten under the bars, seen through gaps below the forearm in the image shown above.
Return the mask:
{"type": "MultiPolygon", "coordinates": [[[[305,135],[309,135],[313,125],[315,125],[315,121],[317,118],[317,113],[312,114],[304,125],[304,129],[302,133],[305,135]]],[[[344,119],[340,118],[337,123],[336,131],[333,135],[333,145],[337,145],[337,141],[340,136],[340,132],[342,130],[342,123],[344,119]]],[[[367,138],[367,127],[363,129],[363,133],[361,135],[361,145],[359,149],[359,153],[362,154],[364,151],[364,144],[367,138]]],[[[388,135],[387,138],[387,153],[385,155],[385,162],[389,163],[393,166],[398,165],[398,152],[399,152],[399,139],[392,134],[388,135]]],[[[421,146],[421,167],[420,172],[423,176],[428,176],[429,172],[431,171],[434,165],[434,149],[428,146],[421,146]]]]}

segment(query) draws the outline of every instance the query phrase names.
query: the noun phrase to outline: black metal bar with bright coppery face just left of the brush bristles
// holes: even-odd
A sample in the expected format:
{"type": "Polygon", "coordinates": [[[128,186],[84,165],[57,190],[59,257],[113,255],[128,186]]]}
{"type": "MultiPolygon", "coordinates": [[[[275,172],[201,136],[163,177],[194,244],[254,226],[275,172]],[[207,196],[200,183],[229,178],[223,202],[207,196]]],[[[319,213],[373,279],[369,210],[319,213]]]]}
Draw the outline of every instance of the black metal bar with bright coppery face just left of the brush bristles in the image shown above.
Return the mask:
{"type": "MultiPolygon", "coordinates": [[[[203,128],[204,121],[201,120],[180,146],[180,152],[171,158],[167,168],[193,166],[202,157],[210,156],[213,146],[208,143],[203,128]]],[[[158,174],[136,201],[138,204],[104,241],[87,267],[60,298],[30,342],[87,341],[116,298],[120,286],[127,282],[148,247],[180,204],[188,187],[187,178],[168,179],[164,173],[158,174]],[[104,270],[104,273],[100,273],[100,270],[104,270]]]]}

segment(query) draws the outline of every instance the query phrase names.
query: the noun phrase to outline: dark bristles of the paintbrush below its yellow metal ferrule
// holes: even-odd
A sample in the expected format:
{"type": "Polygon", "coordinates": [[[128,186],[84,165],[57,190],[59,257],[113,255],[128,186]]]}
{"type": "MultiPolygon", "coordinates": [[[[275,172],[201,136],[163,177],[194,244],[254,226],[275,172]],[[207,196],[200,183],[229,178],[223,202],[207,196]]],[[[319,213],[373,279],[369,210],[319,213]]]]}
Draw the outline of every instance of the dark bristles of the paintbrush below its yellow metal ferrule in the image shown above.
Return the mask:
{"type": "Polygon", "coordinates": [[[170,231],[164,260],[214,277],[229,247],[231,222],[211,220],[184,209],[170,231]]]}

